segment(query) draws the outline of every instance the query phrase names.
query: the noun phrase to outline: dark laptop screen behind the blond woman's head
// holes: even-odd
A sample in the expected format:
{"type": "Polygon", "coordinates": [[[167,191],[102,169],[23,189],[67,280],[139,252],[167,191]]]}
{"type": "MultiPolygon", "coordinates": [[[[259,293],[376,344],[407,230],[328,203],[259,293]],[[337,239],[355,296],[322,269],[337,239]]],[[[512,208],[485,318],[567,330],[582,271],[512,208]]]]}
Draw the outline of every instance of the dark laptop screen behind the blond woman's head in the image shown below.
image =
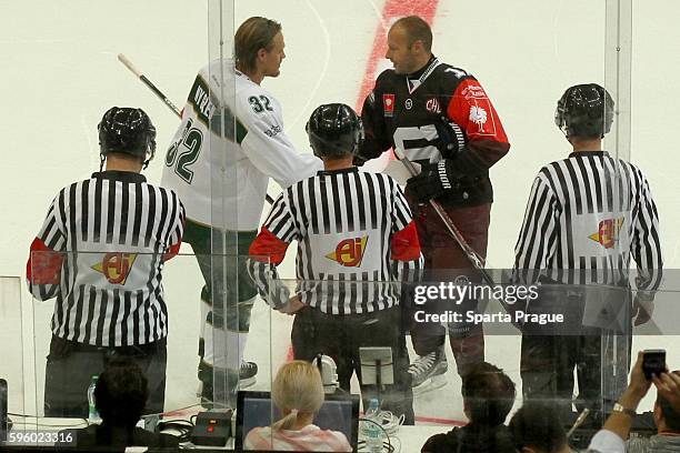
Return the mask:
{"type": "MultiPolygon", "coordinates": [[[[281,419],[269,392],[240,391],[237,403],[236,447],[242,449],[248,433],[258,426],[269,426],[281,419]]],[[[344,434],[353,451],[357,451],[359,429],[358,395],[326,395],[323,405],[314,416],[321,430],[339,431],[344,434]]]]}

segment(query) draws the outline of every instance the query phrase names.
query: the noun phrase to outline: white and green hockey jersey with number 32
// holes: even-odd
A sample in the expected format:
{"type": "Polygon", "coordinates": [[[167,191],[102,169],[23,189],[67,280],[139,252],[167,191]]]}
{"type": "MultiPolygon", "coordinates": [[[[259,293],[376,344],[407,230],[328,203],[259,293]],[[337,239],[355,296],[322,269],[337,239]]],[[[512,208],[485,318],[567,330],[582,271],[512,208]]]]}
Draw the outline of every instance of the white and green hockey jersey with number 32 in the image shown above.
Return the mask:
{"type": "Polygon", "coordinates": [[[270,177],[286,189],[322,167],[286,135],[279,101],[224,59],[197,76],[161,184],[192,221],[249,231],[259,226],[270,177]]]}

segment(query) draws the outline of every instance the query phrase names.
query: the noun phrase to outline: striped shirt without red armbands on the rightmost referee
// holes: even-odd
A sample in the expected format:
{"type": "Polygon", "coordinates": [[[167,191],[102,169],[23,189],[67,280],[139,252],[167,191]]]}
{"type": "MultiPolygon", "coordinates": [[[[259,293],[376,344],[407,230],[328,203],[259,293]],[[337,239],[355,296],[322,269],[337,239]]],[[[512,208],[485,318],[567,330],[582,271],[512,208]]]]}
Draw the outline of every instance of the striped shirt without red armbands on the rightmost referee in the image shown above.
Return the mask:
{"type": "Polygon", "coordinates": [[[543,167],[514,251],[524,281],[543,274],[571,284],[627,283],[632,255],[638,289],[658,289],[659,217],[644,175],[604,151],[573,152],[543,167]]]}

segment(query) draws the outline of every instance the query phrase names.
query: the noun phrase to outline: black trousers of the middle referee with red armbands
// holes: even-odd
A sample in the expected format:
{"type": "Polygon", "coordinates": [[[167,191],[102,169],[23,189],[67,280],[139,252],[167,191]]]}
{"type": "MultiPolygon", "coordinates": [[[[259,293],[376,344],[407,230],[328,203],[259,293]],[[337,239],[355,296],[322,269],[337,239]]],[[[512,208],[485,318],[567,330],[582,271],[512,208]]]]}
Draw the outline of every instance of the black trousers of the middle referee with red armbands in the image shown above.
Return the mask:
{"type": "Polygon", "coordinates": [[[401,308],[366,314],[333,315],[306,306],[296,314],[291,341],[297,360],[312,361],[317,354],[331,356],[338,365],[340,387],[350,391],[350,379],[357,373],[364,410],[372,397],[380,407],[392,414],[404,415],[404,424],[413,424],[413,393],[408,374],[409,354],[401,332],[401,308]],[[361,384],[359,349],[391,348],[394,384],[380,392],[376,385],[361,384]]]}

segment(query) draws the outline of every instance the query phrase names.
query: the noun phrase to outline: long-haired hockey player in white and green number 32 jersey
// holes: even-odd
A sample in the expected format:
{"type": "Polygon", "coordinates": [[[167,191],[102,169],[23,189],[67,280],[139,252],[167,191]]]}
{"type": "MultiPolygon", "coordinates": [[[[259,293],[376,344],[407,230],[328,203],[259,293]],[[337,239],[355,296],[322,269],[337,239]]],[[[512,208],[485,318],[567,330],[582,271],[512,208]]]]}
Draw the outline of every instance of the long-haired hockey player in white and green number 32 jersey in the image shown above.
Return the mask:
{"type": "Polygon", "coordinates": [[[257,234],[269,178],[287,188],[322,168],[300,154],[283,131],[280,103],[260,84],[278,77],[286,52],[281,24],[246,20],[234,36],[236,61],[202,68],[166,155],[162,184],[187,207],[184,242],[191,244],[206,285],[201,292],[199,379],[202,396],[233,396],[254,383],[257,365],[242,360],[257,290],[239,256],[257,234]],[[227,372],[227,373],[226,373],[227,372]],[[228,383],[224,383],[227,379],[228,383]]]}

